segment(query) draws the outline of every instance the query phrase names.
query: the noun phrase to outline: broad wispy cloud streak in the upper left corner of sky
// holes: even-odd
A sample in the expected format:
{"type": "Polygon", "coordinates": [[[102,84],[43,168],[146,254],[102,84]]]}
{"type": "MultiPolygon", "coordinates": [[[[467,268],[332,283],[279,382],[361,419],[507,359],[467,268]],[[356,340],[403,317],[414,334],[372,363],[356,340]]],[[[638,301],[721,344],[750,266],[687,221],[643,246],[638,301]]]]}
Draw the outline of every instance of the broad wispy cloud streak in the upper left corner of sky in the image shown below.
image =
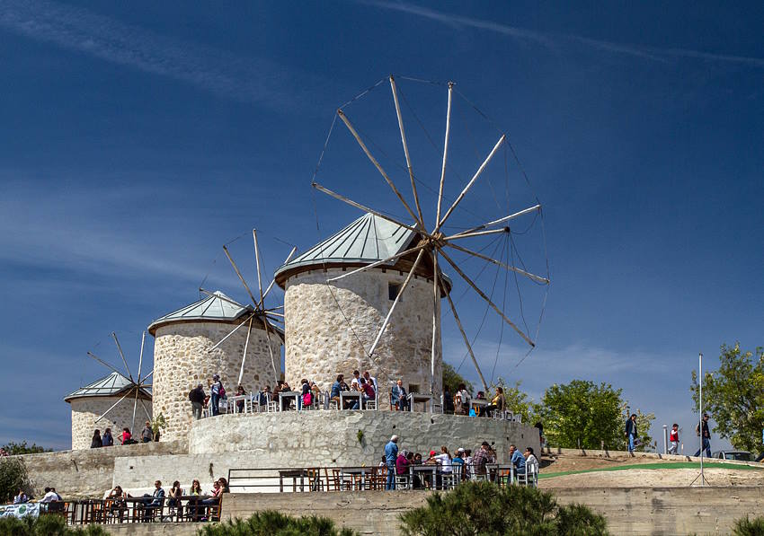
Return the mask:
{"type": "Polygon", "coordinates": [[[88,10],[0,0],[0,27],[102,60],[179,80],[220,96],[275,105],[294,101],[304,74],[273,62],[168,39],[88,10]],[[289,90],[289,99],[284,92],[289,90]]]}

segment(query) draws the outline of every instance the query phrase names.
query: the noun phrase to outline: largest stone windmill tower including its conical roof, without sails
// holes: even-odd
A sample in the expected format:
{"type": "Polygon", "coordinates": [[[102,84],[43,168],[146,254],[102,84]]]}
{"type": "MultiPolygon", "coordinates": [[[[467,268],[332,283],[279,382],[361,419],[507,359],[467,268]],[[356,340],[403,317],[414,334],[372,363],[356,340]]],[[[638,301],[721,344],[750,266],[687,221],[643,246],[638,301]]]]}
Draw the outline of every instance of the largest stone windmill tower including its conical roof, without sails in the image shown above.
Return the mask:
{"type": "MultiPolygon", "coordinates": [[[[377,377],[382,400],[398,378],[410,391],[432,388],[440,394],[440,303],[432,299],[431,264],[425,261],[416,267],[378,338],[379,326],[417,255],[382,261],[419,241],[418,233],[366,214],[277,270],[276,283],[285,290],[285,369],[290,385],[305,377],[325,390],[338,373],[348,376],[359,369],[377,377]],[[376,267],[327,284],[327,279],[372,264],[376,267]]],[[[448,279],[444,288],[450,290],[448,279]]],[[[380,404],[380,409],[385,407],[380,404]]]]}

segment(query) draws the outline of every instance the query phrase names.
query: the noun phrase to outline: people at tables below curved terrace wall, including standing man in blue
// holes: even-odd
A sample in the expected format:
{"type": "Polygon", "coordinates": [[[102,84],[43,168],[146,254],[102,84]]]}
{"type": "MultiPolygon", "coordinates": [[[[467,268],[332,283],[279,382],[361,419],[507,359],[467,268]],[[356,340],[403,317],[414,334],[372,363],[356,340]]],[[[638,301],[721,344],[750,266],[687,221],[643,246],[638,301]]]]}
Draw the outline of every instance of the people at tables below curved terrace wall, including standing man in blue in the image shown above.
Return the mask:
{"type": "MultiPolygon", "coordinates": [[[[407,477],[410,474],[409,469],[411,466],[435,466],[434,473],[436,478],[436,481],[432,482],[428,481],[432,477],[426,473],[422,473],[422,476],[413,474],[411,475],[413,481],[410,483],[412,488],[424,488],[425,486],[440,488],[440,480],[445,476],[453,476],[455,472],[460,480],[470,479],[473,475],[486,475],[488,473],[488,465],[496,463],[497,460],[493,446],[487,441],[484,441],[476,449],[475,454],[473,454],[472,449],[465,449],[463,447],[459,447],[452,454],[448,447],[441,446],[440,453],[431,450],[425,459],[421,453],[413,453],[400,449],[398,447],[399,440],[397,435],[393,435],[390,438],[390,441],[385,445],[385,453],[382,455],[382,460],[379,461],[379,466],[386,467],[387,469],[387,490],[395,489],[395,477],[407,477]]],[[[509,456],[515,475],[525,477],[528,473],[533,475],[538,474],[538,460],[532,447],[526,447],[525,452],[520,453],[517,447],[511,444],[509,456]]]]}

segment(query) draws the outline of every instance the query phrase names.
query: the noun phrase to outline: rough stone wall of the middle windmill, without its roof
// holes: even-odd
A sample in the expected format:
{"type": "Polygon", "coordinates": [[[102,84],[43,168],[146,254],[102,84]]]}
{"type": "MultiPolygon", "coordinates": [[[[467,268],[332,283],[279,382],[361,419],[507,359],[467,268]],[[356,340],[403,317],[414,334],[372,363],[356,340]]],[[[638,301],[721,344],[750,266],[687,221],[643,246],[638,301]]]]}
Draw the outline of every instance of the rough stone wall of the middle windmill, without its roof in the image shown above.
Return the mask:
{"type": "MultiPolygon", "coordinates": [[[[164,414],[167,427],[163,438],[181,439],[191,428],[191,402],[188,394],[202,383],[209,394],[208,381],[220,374],[227,394],[236,391],[236,381],[244,355],[247,327],[237,330],[226,342],[208,353],[218,341],[235,328],[226,322],[178,322],[161,326],[156,330],[154,343],[154,412],[164,414]]],[[[247,346],[242,385],[247,393],[260,391],[266,383],[275,382],[273,365],[281,374],[281,339],[271,331],[273,352],[268,351],[265,330],[255,329],[247,346]]]]}

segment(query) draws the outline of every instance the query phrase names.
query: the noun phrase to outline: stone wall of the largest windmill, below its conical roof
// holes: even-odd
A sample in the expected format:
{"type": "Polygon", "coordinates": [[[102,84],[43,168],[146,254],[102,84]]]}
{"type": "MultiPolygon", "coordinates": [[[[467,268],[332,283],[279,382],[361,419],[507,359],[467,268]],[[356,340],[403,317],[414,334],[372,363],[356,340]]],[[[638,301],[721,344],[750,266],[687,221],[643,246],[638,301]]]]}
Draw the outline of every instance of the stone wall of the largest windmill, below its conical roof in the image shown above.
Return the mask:
{"type": "MultiPolygon", "coordinates": [[[[374,356],[366,352],[377,337],[393,300],[388,284],[402,285],[406,272],[370,269],[326,285],[342,268],[313,270],[286,282],[286,376],[290,385],[300,378],[328,391],[338,373],[350,383],[353,369],[369,370],[379,384],[379,409],[389,409],[387,393],[398,378],[409,391],[429,392],[431,380],[432,282],[414,277],[386,327],[374,356]],[[333,294],[332,294],[333,291],[333,294]],[[339,306],[338,306],[339,303],[339,306]],[[350,322],[350,326],[348,325],[350,322]]],[[[440,395],[442,356],[440,303],[435,358],[435,392],[440,395]]]]}

